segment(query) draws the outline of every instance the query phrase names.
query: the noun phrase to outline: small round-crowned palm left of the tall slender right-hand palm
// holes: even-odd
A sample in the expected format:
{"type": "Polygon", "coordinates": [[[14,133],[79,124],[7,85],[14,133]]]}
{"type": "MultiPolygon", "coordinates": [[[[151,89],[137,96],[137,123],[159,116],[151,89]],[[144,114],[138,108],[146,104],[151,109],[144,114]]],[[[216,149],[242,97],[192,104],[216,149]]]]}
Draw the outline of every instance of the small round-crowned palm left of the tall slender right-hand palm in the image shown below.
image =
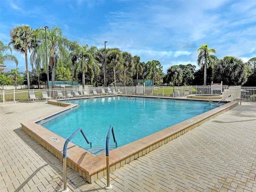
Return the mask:
{"type": "Polygon", "coordinates": [[[183,71],[178,65],[173,65],[167,69],[167,80],[168,82],[172,81],[173,86],[175,86],[175,83],[181,83],[182,77],[183,77],[183,71]]]}

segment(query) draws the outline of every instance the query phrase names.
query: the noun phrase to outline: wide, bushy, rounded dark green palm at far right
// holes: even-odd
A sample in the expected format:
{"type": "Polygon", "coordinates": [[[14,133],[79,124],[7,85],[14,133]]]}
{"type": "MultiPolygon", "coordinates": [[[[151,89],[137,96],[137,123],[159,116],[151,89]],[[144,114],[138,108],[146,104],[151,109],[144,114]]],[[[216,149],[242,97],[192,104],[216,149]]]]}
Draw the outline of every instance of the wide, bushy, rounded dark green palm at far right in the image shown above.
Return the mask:
{"type": "Polygon", "coordinates": [[[247,81],[247,68],[242,59],[226,56],[214,66],[213,77],[226,85],[243,85],[247,81]]]}

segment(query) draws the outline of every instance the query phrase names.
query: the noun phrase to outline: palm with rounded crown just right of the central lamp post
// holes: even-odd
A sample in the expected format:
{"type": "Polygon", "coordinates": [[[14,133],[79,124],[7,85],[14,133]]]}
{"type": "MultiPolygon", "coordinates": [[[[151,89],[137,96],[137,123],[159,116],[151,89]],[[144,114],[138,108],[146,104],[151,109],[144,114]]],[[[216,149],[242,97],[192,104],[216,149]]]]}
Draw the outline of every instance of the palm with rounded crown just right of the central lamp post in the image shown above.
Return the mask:
{"type": "Polygon", "coordinates": [[[122,53],[118,49],[113,49],[108,52],[108,67],[113,69],[114,72],[114,86],[116,86],[116,69],[124,67],[122,53]]]}

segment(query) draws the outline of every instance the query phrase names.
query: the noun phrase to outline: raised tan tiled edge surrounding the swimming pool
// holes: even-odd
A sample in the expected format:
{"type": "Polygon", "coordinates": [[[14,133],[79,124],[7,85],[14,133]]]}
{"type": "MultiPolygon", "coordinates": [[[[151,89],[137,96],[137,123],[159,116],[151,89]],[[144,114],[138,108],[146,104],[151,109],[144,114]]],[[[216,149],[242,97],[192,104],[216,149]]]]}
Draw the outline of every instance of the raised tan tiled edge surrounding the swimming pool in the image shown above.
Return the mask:
{"type": "MultiPolygon", "coordinates": [[[[54,101],[50,101],[48,103],[56,104],[54,101]]],[[[53,132],[50,132],[42,126],[36,124],[36,122],[75,106],[74,104],[67,103],[65,103],[65,105],[66,107],[61,108],[57,112],[48,114],[44,117],[40,117],[40,119],[36,118],[22,123],[22,130],[24,132],[34,138],[34,140],[40,143],[44,148],[54,154],[61,161],[63,155],[62,150],[66,139],[61,138],[53,132]],[[58,138],[60,141],[53,142],[50,140],[50,137],[58,138]]],[[[127,164],[130,161],[147,154],[148,152],[158,148],[159,146],[162,146],[163,144],[166,144],[170,140],[177,138],[178,136],[188,132],[189,130],[192,130],[200,124],[203,124],[204,122],[218,116],[219,114],[222,114],[223,112],[233,108],[236,105],[238,105],[238,102],[229,102],[224,106],[198,115],[192,118],[192,120],[186,120],[155,134],[110,151],[110,171],[118,169],[124,164],[127,164]]],[[[110,138],[110,140],[111,139],[112,138],[110,138]]],[[[70,142],[68,144],[67,157],[67,165],[90,183],[106,175],[105,154],[93,156],[92,154],[86,152],[84,149],[79,148],[70,142]]]]}

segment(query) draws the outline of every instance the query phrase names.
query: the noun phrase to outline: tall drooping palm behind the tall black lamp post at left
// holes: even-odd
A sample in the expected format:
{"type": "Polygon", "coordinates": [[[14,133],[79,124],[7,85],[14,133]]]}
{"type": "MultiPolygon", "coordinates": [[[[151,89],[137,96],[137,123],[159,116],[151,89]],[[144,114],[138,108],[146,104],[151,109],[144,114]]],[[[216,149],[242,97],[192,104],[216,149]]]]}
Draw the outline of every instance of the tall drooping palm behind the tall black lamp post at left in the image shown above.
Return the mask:
{"type": "MultiPolygon", "coordinates": [[[[32,60],[40,60],[46,66],[46,41],[45,29],[38,28],[35,33],[36,40],[40,45],[34,49],[31,54],[32,60]]],[[[49,58],[50,66],[52,66],[52,88],[54,88],[55,68],[61,60],[69,62],[70,54],[67,49],[70,48],[71,42],[66,37],[62,36],[62,30],[58,26],[53,26],[51,29],[46,30],[47,37],[47,55],[49,58]]],[[[47,71],[47,70],[46,70],[47,71]]]]}

